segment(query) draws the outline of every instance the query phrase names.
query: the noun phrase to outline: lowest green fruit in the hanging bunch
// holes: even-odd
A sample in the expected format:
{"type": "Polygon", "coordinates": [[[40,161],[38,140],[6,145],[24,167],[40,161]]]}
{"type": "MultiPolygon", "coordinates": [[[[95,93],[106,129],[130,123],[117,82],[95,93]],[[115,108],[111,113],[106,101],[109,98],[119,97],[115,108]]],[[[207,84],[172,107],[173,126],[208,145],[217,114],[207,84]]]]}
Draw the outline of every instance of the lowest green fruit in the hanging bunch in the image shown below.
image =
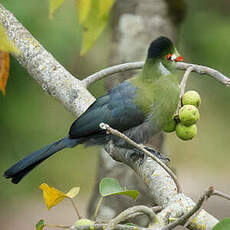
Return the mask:
{"type": "Polygon", "coordinates": [[[176,126],[176,135],[184,140],[191,140],[193,137],[195,137],[197,134],[197,127],[196,125],[182,125],[181,123],[177,124],[176,126]]]}

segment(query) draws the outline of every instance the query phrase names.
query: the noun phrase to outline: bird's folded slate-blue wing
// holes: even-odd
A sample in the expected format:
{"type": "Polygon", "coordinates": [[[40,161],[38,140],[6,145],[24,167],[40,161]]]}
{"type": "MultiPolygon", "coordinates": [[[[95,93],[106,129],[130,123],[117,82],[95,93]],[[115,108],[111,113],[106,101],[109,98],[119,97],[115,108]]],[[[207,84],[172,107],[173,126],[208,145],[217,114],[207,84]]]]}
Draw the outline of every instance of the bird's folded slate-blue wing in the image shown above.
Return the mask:
{"type": "Polygon", "coordinates": [[[145,115],[135,104],[136,87],[125,81],[98,98],[71,126],[70,138],[82,138],[102,133],[99,124],[104,122],[124,131],[138,126],[145,115]]]}

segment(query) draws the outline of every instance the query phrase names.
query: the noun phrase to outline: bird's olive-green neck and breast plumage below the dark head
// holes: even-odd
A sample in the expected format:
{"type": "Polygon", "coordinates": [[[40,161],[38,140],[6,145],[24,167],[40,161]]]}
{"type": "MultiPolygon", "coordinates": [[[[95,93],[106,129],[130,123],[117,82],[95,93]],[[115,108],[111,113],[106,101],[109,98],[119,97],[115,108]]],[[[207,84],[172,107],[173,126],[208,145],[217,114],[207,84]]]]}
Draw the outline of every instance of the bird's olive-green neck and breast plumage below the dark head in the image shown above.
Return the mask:
{"type": "Polygon", "coordinates": [[[137,87],[136,104],[157,127],[172,117],[179,101],[177,74],[159,60],[146,61],[141,74],[130,81],[137,87]]]}

